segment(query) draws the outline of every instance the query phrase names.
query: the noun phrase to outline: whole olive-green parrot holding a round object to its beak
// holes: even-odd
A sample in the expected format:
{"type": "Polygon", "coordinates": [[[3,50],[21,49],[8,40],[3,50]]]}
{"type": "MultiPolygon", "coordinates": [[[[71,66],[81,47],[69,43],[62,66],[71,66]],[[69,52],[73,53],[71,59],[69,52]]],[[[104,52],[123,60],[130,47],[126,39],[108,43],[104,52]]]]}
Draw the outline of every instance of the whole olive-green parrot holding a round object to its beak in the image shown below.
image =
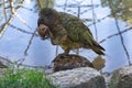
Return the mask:
{"type": "Polygon", "coordinates": [[[105,55],[84,22],[69,13],[44,8],[38,13],[37,32],[42,38],[48,36],[53,45],[59,45],[64,54],[76,48],[90,48],[98,55],[105,55]]]}

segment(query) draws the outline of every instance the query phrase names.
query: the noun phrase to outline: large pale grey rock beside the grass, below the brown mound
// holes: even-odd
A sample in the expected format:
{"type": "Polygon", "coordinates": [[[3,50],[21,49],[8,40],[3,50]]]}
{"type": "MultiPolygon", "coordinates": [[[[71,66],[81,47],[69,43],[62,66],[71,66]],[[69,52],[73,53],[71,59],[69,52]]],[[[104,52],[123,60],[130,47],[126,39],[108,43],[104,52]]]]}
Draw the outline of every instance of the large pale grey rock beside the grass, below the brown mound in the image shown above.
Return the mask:
{"type": "Polygon", "coordinates": [[[90,67],[62,70],[48,77],[61,88],[106,88],[105,78],[90,67]]]}

